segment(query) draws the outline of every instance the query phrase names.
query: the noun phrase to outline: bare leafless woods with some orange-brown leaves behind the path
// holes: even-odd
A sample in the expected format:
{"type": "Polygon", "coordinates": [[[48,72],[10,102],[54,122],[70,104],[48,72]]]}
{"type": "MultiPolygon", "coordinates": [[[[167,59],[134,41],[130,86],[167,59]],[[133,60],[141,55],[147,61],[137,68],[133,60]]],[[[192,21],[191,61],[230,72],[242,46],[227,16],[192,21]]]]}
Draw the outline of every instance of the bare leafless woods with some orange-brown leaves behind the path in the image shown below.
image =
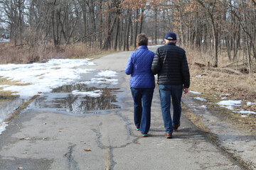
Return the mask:
{"type": "Polygon", "coordinates": [[[134,50],[146,33],[154,44],[172,31],[186,49],[208,57],[240,62],[254,72],[256,60],[255,0],[4,0],[1,23],[14,45],[61,50],[82,43],[87,50],[134,50]]]}

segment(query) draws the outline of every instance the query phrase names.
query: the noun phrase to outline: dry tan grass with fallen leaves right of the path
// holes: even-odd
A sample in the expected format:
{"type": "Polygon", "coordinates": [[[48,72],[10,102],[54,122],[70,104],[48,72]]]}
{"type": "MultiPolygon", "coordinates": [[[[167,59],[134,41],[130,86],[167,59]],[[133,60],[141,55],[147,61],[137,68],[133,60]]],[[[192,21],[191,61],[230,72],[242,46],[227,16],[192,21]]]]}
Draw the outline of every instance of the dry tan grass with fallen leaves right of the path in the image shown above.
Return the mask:
{"type": "MultiPolygon", "coordinates": [[[[202,61],[207,61],[208,56],[199,55],[198,52],[188,52],[188,55],[190,55],[188,56],[188,62],[190,63],[191,72],[190,90],[201,92],[202,94],[197,96],[207,99],[208,103],[210,103],[208,104],[208,109],[211,109],[213,113],[243,130],[255,132],[256,115],[250,114],[247,115],[247,118],[242,118],[240,113],[233,113],[226,108],[220,108],[216,103],[222,101],[222,97],[226,97],[225,100],[242,100],[242,106],[239,109],[256,112],[256,104],[250,106],[246,104],[248,101],[256,103],[256,73],[238,75],[234,72],[225,72],[220,69],[199,67],[194,63],[206,64],[206,62],[202,61]],[[198,75],[201,75],[201,77],[196,77],[198,75]]],[[[224,53],[220,55],[220,67],[233,63],[226,56],[224,53]]],[[[235,64],[235,66],[231,64],[229,68],[236,69],[238,68],[237,66],[238,64],[235,64]]],[[[237,70],[240,71],[240,69],[237,70]]],[[[256,70],[256,67],[254,70],[256,70]]]]}

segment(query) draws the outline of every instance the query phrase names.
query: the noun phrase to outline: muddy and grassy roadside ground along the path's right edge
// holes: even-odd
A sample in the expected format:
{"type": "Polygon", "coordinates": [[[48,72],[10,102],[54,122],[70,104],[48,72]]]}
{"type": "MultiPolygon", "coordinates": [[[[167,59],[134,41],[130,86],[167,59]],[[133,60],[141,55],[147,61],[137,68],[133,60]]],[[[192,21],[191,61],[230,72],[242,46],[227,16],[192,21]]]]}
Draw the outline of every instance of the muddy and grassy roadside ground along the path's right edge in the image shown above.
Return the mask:
{"type": "Polygon", "coordinates": [[[191,66],[190,93],[183,96],[186,117],[246,169],[256,169],[255,89],[255,74],[191,66]],[[220,101],[240,104],[220,106],[220,101]]]}

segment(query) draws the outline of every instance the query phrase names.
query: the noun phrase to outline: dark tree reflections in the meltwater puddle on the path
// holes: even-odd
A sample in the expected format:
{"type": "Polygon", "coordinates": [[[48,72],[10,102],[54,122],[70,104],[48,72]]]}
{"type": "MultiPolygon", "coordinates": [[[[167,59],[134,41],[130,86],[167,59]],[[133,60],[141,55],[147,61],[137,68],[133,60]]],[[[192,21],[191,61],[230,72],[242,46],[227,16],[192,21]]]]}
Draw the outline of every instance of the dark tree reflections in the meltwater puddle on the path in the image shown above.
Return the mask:
{"type": "MultiPolygon", "coordinates": [[[[46,100],[45,97],[37,98],[35,106],[40,108],[66,108],[68,111],[83,114],[86,111],[99,111],[119,108],[119,106],[112,104],[117,102],[117,96],[112,94],[118,92],[118,88],[97,89],[95,87],[88,87],[85,84],[74,84],[68,86],[60,86],[53,90],[53,93],[58,93],[58,98],[46,100]],[[82,95],[71,94],[72,91],[95,91],[100,90],[102,95],[100,97],[90,97],[82,95]]],[[[54,96],[54,94],[53,94],[54,96]]]]}

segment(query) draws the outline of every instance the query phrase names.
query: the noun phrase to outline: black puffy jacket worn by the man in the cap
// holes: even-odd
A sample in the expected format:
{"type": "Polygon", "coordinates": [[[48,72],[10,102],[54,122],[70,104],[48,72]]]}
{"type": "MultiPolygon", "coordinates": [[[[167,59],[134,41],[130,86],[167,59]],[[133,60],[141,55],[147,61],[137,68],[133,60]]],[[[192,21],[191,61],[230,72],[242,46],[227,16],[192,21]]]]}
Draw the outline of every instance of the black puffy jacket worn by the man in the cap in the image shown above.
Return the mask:
{"type": "Polygon", "coordinates": [[[151,72],[158,74],[158,84],[190,86],[186,52],[174,43],[159,47],[154,55],[151,72]]]}

